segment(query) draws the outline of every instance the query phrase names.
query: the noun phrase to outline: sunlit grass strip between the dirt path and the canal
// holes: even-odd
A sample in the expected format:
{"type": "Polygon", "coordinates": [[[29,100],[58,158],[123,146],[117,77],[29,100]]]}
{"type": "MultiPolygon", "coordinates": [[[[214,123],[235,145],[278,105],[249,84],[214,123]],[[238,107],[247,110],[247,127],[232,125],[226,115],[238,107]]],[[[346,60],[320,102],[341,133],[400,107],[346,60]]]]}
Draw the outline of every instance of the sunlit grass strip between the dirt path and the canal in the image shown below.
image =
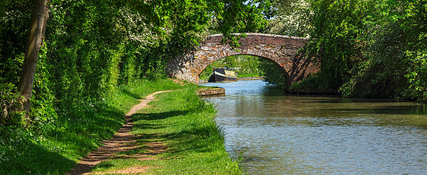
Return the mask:
{"type": "Polygon", "coordinates": [[[162,93],[150,107],[133,115],[133,134],[140,148],[119,155],[147,151],[149,142],[161,142],[167,151],[152,160],[119,158],[100,163],[94,172],[112,172],[126,167],[151,167],[144,174],[241,174],[224,147],[224,139],[213,121],[215,109],[200,100],[188,84],[180,91],[162,93]]]}

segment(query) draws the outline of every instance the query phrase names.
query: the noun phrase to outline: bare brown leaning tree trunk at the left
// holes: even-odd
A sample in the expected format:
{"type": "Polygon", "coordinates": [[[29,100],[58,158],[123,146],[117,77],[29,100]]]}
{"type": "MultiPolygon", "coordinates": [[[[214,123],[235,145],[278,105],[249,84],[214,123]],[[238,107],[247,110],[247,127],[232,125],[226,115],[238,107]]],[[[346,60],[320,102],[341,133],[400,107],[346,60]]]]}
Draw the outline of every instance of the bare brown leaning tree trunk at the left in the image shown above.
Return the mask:
{"type": "Polygon", "coordinates": [[[31,93],[33,91],[34,74],[38,60],[38,52],[45,35],[45,24],[49,10],[47,2],[49,0],[33,0],[33,9],[31,12],[31,21],[27,38],[27,46],[24,57],[24,66],[19,84],[20,95],[22,96],[22,110],[26,111],[26,116],[31,112],[31,93]]]}

